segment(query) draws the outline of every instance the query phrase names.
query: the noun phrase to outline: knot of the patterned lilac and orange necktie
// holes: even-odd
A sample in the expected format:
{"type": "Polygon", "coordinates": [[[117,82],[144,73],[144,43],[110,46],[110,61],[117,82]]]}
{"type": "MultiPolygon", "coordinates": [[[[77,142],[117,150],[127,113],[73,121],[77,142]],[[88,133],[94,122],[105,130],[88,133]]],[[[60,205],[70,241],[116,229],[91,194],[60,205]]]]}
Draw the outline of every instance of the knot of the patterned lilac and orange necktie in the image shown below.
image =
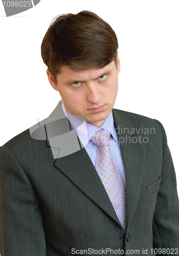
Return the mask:
{"type": "Polygon", "coordinates": [[[91,138],[91,141],[98,147],[109,145],[110,133],[107,130],[98,128],[91,138]]]}

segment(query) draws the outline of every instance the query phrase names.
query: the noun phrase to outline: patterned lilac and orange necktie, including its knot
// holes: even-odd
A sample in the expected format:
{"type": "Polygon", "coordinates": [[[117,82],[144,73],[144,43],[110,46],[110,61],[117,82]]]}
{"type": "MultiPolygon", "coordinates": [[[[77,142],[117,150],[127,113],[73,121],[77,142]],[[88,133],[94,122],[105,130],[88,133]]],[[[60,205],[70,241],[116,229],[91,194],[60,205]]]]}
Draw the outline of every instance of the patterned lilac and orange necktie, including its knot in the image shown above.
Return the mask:
{"type": "Polygon", "coordinates": [[[109,138],[110,133],[108,131],[98,128],[91,141],[98,147],[96,170],[125,231],[126,188],[117,162],[110,154],[109,138]]]}

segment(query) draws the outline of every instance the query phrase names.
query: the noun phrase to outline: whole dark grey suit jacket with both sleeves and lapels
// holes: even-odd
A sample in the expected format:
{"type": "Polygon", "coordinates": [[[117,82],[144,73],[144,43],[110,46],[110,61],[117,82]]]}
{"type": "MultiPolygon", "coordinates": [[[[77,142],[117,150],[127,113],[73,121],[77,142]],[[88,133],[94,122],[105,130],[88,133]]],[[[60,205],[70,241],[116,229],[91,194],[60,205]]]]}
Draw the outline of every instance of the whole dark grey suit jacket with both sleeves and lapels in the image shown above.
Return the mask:
{"type": "MultiPolygon", "coordinates": [[[[58,113],[62,113],[60,104],[48,119],[1,147],[1,256],[67,256],[79,254],[77,250],[88,250],[89,255],[90,249],[96,250],[92,255],[100,255],[99,250],[106,248],[114,250],[114,255],[115,250],[122,254],[119,249],[129,255],[135,253],[131,250],[139,250],[138,255],[145,255],[143,250],[147,255],[157,254],[152,248],[163,249],[159,255],[165,249],[177,255],[179,204],[162,124],[113,110],[117,132],[123,138],[124,233],[85,148],[68,120],[59,119],[58,113]],[[68,140],[72,133],[75,139],[68,140]],[[55,138],[66,145],[65,151],[55,138]],[[69,142],[64,143],[65,139],[69,142]],[[69,143],[76,143],[75,147],[69,143]],[[71,147],[71,154],[66,155],[66,148],[70,151],[71,147]]],[[[105,252],[113,255],[113,251],[105,252]]]]}

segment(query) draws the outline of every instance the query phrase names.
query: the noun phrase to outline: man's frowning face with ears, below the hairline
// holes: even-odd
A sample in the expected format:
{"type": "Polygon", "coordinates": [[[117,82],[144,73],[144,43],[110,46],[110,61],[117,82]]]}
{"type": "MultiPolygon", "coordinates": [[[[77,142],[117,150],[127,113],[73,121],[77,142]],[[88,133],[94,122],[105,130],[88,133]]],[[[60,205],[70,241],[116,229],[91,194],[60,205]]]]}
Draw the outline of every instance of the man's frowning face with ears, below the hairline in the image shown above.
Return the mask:
{"type": "Polygon", "coordinates": [[[74,116],[100,127],[110,114],[118,92],[120,60],[110,62],[102,69],[92,68],[81,72],[67,66],[57,75],[57,84],[47,70],[52,87],[61,95],[65,109],[74,116]]]}

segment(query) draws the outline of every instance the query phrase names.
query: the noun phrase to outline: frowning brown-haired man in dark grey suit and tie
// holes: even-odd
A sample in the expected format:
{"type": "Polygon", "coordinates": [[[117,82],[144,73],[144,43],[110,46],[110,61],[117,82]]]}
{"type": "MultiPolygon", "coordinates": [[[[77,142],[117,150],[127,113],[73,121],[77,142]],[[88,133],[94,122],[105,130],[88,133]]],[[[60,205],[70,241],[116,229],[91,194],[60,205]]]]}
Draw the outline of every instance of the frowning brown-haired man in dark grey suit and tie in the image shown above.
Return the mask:
{"type": "Polygon", "coordinates": [[[53,113],[1,147],[1,255],[170,255],[179,204],[159,121],[113,109],[118,41],[96,14],[58,16],[41,45],[53,113]]]}

